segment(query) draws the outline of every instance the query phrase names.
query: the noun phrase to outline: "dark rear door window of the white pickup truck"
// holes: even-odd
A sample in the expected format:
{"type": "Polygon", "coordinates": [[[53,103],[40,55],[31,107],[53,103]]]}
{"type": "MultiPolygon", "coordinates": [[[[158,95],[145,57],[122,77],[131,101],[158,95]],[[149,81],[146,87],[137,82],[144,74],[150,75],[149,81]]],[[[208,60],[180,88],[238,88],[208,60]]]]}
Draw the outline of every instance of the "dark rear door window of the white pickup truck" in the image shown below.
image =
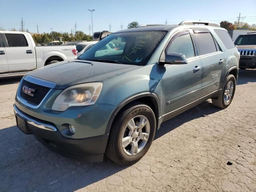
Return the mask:
{"type": "Polygon", "coordinates": [[[28,42],[23,34],[5,34],[9,47],[26,47],[28,42]]]}

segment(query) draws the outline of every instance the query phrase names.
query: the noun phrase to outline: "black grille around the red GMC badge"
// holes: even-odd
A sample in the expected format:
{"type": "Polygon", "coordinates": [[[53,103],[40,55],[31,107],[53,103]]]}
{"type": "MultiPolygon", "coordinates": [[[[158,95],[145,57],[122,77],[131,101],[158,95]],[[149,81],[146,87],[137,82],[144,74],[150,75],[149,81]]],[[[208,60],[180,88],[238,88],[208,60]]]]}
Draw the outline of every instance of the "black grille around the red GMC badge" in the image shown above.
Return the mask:
{"type": "Polygon", "coordinates": [[[29,102],[30,104],[33,105],[39,105],[40,102],[44,99],[44,97],[46,96],[46,94],[50,91],[50,88],[48,87],[44,87],[44,86],[40,86],[34,83],[30,83],[26,80],[22,81],[22,85],[20,87],[20,96],[26,100],[27,102],[29,102]],[[30,96],[26,93],[24,93],[22,91],[23,86],[26,86],[28,88],[32,88],[35,91],[33,92],[34,96],[30,96]]]}

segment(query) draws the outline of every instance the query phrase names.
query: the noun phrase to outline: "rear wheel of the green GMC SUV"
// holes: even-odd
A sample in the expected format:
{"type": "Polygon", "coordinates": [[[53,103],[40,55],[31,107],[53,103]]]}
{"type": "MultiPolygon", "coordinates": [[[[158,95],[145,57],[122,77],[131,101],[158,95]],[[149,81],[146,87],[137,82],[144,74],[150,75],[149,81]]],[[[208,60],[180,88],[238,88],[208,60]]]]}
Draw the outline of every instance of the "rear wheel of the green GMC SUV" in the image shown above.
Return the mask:
{"type": "Polygon", "coordinates": [[[226,77],[224,86],[218,98],[212,98],[212,104],[219,108],[227,108],[234,98],[236,90],[236,78],[230,74],[226,77]]]}

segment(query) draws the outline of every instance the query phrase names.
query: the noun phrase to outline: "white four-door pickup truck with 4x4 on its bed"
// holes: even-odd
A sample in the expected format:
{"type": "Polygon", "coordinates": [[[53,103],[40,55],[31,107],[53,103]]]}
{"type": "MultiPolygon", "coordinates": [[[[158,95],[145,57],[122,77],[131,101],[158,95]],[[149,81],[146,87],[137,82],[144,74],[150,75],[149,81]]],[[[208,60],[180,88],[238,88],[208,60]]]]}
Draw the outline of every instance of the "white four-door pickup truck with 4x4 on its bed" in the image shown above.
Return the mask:
{"type": "Polygon", "coordinates": [[[25,74],[58,61],[76,59],[75,45],[36,46],[26,32],[0,31],[0,77],[25,74]]]}

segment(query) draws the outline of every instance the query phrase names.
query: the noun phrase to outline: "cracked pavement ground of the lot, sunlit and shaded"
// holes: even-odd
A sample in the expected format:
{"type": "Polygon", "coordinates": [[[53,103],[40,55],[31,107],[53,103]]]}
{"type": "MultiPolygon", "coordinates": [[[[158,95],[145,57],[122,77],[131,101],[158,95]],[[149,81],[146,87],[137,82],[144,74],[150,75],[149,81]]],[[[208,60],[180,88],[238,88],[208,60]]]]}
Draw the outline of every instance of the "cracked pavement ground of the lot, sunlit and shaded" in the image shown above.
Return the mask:
{"type": "Polygon", "coordinates": [[[18,130],[20,78],[0,78],[1,192],[256,192],[256,70],[239,71],[227,109],[208,100],[164,122],[144,158],[127,167],[64,158],[18,130]]]}

